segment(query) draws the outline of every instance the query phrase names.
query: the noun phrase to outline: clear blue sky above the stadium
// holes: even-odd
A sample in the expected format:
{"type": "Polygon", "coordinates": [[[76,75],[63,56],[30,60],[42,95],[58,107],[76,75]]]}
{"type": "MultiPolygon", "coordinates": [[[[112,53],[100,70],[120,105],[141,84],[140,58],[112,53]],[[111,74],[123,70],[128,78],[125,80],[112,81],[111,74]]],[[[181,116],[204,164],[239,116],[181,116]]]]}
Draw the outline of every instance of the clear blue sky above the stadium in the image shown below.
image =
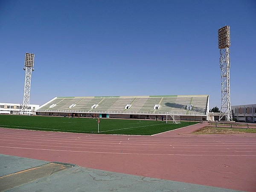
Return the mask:
{"type": "Polygon", "coordinates": [[[218,29],[230,26],[231,105],[256,103],[255,0],[1,0],[0,102],[209,94],[221,106],[218,29]]]}

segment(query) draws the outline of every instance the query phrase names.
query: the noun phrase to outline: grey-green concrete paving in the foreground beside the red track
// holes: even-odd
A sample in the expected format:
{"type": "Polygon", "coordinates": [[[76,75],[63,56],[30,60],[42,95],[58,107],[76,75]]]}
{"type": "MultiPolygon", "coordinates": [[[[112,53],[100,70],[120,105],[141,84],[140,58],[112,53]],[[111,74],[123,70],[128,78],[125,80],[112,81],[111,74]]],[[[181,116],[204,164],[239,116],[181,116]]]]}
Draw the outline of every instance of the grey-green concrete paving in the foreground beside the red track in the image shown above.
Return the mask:
{"type": "MultiPolygon", "coordinates": [[[[23,172],[34,167],[45,167],[45,165],[54,166],[54,171],[47,172],[42,177],[34,178],[32,182],[25,182],[19,186],[9,186],[8,192],[84,192],[84,191],[118,191],[118,192],[238,192],[232,189],[224,189],[211,186],[203,186],[191,183],[176,182],[171,180],[162,180],[151,177],[141,177],[116,172],[108,172],[97,169],[68,165],[66,163],[51,163],[41,160],[33,160],[22,157],[15,157],[0,154],[0,175],[9,177],[19,175],[17,172],[23,172]],[[67,166],[68,169],[63,169],[67,166]],[[56,171],[58,169],[58,171],[56,171]]],[[[48,167],[48,166],[47,166],[48,167]]],[[[36,170],[36,169],[33,169],[36,170]]],[[[49,170],[49,167],[47,168],[49,170]]],[[[35,173],[33,173],[35,174],[35,173]]],[[[0,177],[0,191],[6,191],[2,186],[12,185],[5,182],[0,177]]]]}

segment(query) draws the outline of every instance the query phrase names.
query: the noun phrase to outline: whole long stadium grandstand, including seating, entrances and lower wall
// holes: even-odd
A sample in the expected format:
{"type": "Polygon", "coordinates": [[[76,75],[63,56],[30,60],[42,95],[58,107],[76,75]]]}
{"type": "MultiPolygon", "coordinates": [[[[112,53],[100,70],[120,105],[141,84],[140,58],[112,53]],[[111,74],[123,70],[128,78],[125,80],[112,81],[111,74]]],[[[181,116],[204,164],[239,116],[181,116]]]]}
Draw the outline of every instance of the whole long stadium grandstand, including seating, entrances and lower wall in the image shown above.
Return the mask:
{"type": "Polygon", "coordinates": [[[180,120],[208,120],[209,95],[55,97],[37,115],[154,119],[172,113],[180,120]]]}

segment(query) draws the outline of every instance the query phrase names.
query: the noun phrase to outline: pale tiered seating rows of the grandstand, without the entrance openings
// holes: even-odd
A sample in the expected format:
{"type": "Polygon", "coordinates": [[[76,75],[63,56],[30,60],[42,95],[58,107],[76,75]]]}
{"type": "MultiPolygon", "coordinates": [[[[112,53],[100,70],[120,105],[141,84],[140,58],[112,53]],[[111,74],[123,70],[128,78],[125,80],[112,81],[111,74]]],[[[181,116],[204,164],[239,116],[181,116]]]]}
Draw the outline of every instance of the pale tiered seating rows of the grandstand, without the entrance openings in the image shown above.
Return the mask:
{"type": "Polygon", "coordinates": [[[130,114],[165,114],[172,112],[186,115],[189,113],[206,114],[208,95],[203,96],[123,96],[123,97],[56,97],[38,111],[61,111],[83,113],[130,113],[130,114]],[[51,105],[54,107],[49,108],[51,105]],[[69,108],[70,105],[75,107],[69,108]],[[94,104],[98,107],[92,109],[94,104]],[[131,108],[125,109],[126,105],[131,108]],[[186,106],[192,104],[192,110],[186,106]],[[154,109],[160,105],[159,109],[154,109]]]}

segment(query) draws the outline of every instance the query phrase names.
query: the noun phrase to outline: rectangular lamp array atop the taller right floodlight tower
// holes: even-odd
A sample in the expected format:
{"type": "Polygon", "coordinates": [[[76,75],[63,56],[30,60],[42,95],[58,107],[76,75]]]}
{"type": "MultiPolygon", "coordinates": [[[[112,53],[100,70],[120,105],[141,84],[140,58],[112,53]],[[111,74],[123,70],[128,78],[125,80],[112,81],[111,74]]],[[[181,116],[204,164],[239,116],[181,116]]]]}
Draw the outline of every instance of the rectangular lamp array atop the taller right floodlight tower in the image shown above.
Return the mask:
{"type": "Polygon", "coordinates": [[[226,47],[230,47],[230,26],[218,29],[218,48],[224,49],[226,47]]]}

